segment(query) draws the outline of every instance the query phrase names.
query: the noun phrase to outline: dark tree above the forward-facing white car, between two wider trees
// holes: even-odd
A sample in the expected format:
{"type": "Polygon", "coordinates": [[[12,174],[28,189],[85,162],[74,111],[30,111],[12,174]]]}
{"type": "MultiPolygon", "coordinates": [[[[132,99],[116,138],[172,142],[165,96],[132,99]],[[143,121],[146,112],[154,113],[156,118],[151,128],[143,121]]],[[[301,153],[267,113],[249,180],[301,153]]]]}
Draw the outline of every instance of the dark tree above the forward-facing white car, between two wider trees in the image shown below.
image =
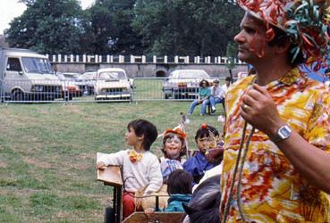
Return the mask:
{"type": "Polygon", "coordinates": [[[97,0],[89,9],[97,54],[142,54],[141,40],[131,28],[135,0],[97,0]]]}

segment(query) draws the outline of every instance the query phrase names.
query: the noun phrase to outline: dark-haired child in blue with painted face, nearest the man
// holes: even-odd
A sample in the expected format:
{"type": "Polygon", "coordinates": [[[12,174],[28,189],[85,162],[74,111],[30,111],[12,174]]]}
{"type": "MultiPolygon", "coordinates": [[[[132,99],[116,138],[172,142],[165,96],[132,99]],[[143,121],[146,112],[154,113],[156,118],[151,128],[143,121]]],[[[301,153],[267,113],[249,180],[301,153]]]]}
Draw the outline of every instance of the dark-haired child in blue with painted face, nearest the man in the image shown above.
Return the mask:
{"type": "Polygon", "coordinates": [[[214,168],[221,160],[223,150],[220,145],[220,136],[216,128],[202,124],[198,129],[195,142],[199,152],[184,162],[183,169],[194,178],[194,184],[198,184],[205,171],[214,168]]]}

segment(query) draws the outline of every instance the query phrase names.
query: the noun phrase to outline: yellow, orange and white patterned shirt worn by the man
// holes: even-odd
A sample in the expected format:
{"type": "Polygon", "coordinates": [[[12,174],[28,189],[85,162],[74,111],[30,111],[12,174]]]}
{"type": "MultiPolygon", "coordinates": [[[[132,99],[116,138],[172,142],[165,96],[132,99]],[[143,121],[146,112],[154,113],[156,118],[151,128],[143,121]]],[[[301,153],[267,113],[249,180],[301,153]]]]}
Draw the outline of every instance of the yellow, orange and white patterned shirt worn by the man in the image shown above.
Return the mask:
{"type": "MultiPolygon", "coordinates": [[[[226,95],[227,120],[220,205],[222,217],[244,125],[240,115],[241,99],[254,78],[250,76],[239,80],[226,95]]],[[[291,128],[309,144],[330,153],[328,88],[306,78],[295,68],[280,80],[269,83],[267,91],[272,95],[282,119],[291,128]]],[[[250,130],[251,126],[248,125],[246,136],[249,136],[250,130]]],[[[227,222],[241,222],[237,202],[238,176],[227,222]]],[[[241,206],[249,222],[329,222],[326,194],[311,186],[269,137],[258,129],[251,137],[242,172],[241,206]]]]}

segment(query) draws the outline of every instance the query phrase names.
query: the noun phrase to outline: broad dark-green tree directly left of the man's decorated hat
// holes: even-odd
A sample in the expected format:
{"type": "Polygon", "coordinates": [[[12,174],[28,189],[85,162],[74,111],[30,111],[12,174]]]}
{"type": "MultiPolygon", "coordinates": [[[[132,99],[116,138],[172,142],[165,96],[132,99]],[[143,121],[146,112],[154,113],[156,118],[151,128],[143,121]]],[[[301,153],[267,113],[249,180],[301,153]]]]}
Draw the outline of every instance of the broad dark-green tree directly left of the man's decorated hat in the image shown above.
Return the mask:
{"type": "Polygon", "coordinates": [[[148,54],[224,55],[243,14],[229,1],[137,0],[134,29],[148,54]],[[241,15],[241,16],[240,16],[241,15]]]}

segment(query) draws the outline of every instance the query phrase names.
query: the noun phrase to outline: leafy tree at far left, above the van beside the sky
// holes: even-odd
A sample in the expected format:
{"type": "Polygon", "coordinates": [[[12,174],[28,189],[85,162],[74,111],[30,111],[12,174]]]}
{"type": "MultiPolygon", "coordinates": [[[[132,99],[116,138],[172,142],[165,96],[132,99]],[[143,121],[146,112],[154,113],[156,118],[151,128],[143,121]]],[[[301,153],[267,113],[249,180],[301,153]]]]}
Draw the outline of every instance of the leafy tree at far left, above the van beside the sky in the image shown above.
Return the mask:
{"type": "Polygon", "coordinates": [[[47,54],[80,53],[84,35],[77,0],[22,0],[27,10],[10,23],[5,36],[10,46],[47,54]]]}

